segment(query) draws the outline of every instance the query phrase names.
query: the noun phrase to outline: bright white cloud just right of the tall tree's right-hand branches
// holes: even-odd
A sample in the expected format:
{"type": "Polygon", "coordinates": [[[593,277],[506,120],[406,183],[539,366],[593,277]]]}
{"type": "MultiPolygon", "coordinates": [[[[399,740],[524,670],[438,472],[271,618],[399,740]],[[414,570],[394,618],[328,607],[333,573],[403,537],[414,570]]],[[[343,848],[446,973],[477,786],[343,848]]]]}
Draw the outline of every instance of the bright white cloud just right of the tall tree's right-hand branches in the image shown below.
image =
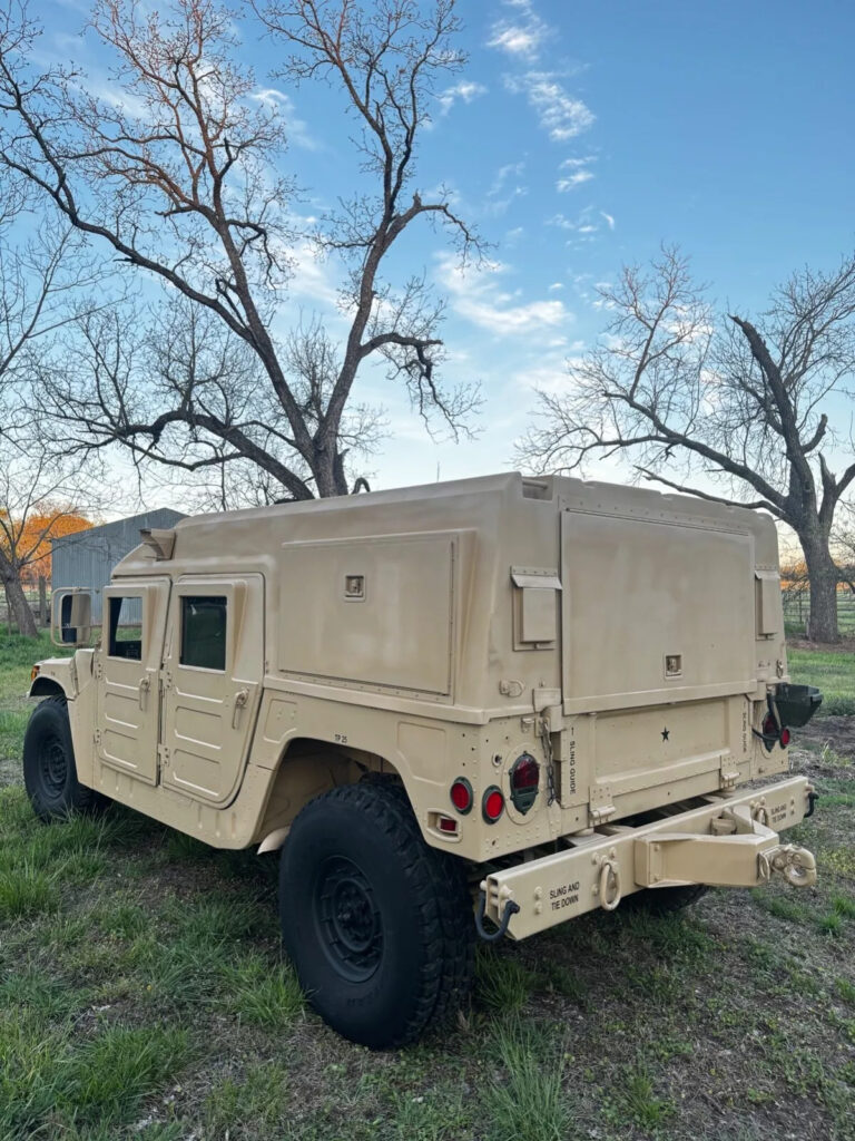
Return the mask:
{"type": "Polygon", "coordinates": [[[503,291],[498,278],[507,266],[489,262],[480,270],[462,269],[451,258],[439,261],[438,276],[455,313],[496,337],[529,337],[557,330],[573,319],[563,301],[513,304],[518,294],[503,291]]]}

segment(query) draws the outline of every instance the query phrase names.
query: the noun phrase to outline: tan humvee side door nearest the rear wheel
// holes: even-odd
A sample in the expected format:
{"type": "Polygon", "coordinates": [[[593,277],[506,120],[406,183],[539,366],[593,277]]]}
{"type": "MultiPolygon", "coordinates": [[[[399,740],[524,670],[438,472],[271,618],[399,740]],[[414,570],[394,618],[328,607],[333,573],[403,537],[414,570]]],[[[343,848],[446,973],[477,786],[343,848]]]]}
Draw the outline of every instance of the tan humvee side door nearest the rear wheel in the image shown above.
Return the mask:
{"type": "Polygon", "coordinates": [[[264,669],[263,578],[179,578],[163,670],[161,782],[206,803],[237,793],[264,669]]]}

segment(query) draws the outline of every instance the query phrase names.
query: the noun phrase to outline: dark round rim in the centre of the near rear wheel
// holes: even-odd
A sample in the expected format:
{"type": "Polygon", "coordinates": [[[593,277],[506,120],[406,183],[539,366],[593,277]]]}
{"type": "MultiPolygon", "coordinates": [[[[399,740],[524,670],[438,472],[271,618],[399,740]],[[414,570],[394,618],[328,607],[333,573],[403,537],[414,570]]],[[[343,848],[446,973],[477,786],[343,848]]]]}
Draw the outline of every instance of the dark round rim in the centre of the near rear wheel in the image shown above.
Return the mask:
{"type": "Polygon", "coordinates": [[[365,982],[383,954],[380,908],[367,877],[352,860],[334,856],[319,871],[314,903],[329,964],[349,982],[365,982]]]}

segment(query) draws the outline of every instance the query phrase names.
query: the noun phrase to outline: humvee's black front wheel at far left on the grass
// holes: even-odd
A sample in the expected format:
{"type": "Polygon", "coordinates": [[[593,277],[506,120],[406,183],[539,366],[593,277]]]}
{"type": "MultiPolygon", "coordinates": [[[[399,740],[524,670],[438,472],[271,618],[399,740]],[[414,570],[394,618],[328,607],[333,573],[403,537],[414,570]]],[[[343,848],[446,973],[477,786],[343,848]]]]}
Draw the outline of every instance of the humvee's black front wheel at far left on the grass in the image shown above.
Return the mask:
{"type": "Polygon", "coordinates": [[[24,784],[33,811],[46,823],[98,811],[109,803],[78,780],[64,697],[46,697],[30,715],[24,734],[24,784]]]}

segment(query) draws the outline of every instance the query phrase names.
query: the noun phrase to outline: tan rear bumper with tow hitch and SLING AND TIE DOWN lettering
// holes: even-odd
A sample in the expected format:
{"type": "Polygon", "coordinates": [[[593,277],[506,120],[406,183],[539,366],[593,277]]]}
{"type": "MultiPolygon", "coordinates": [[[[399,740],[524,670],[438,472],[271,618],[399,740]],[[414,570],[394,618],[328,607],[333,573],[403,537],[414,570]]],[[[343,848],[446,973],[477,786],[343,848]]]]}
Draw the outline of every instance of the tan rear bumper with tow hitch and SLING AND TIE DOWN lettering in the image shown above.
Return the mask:
{"type": "Polygon", "coordinates": [[[764,788],[716,793],[692,808],[637,827],[602,825],[564,837],[565,851],[490,873],[481,883],[484,914],[524,939],[596,907],[612,911],[643,888],[707,883],[750,888],[781,872],[793,885],[815,882],[815,860],[784,845],[779,832],[812,811],[813,788],[792,777],[764,788]]]}

